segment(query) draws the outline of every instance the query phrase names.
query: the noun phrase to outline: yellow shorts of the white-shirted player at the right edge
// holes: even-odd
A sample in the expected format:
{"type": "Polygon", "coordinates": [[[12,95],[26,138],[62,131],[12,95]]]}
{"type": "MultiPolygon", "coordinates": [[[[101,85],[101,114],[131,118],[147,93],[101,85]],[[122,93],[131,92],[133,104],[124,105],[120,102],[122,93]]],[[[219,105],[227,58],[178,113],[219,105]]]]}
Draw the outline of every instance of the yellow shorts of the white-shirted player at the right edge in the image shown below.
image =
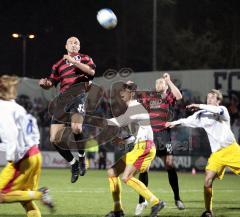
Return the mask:
{"type": "Polygon", "coordinates": [[[240,175],[240,146],[237,143],[212,153],[206,170],[216,172],[218,178],[223,179],[225,167],[229,167],[235,174],[240,175]]]}

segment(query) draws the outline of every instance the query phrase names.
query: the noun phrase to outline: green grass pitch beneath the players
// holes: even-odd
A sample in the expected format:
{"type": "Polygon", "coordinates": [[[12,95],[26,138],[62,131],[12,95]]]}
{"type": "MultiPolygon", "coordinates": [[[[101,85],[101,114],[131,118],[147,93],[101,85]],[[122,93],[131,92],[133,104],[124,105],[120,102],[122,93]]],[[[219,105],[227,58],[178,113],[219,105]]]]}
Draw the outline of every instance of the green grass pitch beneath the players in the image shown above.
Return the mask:
{"type": "MultiPolygon", "coordinates": [[[[149,188],[167,202],[159,216],[197,217],[204,211],[203,180],[204,174],[192,175],[178,173],[181,198],[186,205],[184,211],[176,209],[173,194],[168,184],[166,172],[150,172],[149,188]]],[[[240,216],[239,177],[226,174],[224,180],[215,181],[214,213],[217,217],[240,216]]],[[[79,177],[75,184],[70,183],[70,170],[43,169],[40,186],[48,186],[56,202],[56,213],[50,214],[41,203],[42,216],[50,217],[95,217],[104,216],[112,209],[106,171],[89,170],[84,177],[79,177]]],[[[125,184],[122,200],[126,216],[134,216],[137,194],[125,184]]],[[[148,216],[148,207],[143,216],[148,216]]],[[[0,217],[23,217],[24,210],[18,203],[0,204],[0,217]]]]}

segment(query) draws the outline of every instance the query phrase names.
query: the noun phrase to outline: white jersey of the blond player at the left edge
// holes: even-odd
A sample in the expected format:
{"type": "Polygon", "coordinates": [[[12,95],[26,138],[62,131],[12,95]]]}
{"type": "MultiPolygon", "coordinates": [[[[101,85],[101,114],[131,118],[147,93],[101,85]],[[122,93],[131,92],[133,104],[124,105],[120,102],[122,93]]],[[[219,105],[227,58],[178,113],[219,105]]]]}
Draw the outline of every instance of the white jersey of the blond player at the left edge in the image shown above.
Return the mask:
{"type": "Polygon", "coordinates": [[[0,150],[6,152],[6,160],[21,160],[27,151],[39,144],[36,119],[15,101],[0,100],[0,150]]]}

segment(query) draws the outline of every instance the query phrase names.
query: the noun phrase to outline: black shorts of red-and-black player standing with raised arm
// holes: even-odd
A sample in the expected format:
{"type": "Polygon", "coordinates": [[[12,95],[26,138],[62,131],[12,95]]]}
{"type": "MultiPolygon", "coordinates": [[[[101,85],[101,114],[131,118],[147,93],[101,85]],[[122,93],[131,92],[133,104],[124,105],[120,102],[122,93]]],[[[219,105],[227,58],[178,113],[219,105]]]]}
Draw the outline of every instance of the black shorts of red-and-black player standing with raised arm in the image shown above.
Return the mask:
{"type": "Polygon", "coordinates": [[[154,132],[154,143],[156,145],[156,156],[162,157],[173,154],[170,129],[154,132]]]}

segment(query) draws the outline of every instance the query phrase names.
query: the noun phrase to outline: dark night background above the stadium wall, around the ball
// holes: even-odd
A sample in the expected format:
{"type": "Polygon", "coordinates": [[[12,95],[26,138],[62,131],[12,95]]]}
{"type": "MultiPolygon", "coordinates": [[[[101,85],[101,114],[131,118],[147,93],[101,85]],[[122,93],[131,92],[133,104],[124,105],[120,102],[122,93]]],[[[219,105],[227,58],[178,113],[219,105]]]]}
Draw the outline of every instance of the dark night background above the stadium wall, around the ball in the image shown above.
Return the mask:
{"type": "MultiPolygon", "coordinates": [[[[72,35],[97,76],[152,70],[153,0],[1,0],[0,29],[0,74],[22,75],[22,42],[13,32],[37,35],[27,41],[27,77],[48,75],[72,35]],[[118,17],[113,30],[97,23],[105,7],[118,17]]],[[[239,67],[240,1],[157,0],[157,70],[239,67]]]]}

